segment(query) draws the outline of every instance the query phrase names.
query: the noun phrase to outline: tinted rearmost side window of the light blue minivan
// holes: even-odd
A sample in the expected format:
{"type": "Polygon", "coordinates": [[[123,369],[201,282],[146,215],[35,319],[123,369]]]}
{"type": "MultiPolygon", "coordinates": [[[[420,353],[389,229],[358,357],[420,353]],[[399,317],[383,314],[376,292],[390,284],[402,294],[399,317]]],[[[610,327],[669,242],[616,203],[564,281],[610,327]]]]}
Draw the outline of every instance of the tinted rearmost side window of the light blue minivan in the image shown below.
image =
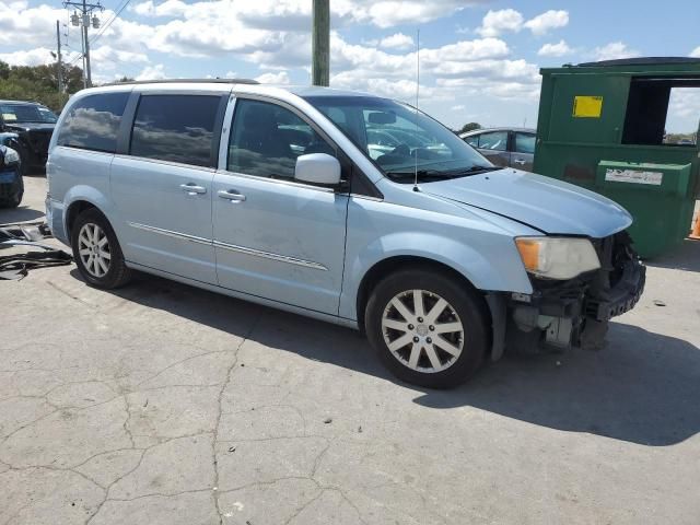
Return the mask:
{"type": "Polygon", "coordinates": [[[59,145],[114,153],[129,93],[90,95],[73,104],[58,136],[59,145]]]}

